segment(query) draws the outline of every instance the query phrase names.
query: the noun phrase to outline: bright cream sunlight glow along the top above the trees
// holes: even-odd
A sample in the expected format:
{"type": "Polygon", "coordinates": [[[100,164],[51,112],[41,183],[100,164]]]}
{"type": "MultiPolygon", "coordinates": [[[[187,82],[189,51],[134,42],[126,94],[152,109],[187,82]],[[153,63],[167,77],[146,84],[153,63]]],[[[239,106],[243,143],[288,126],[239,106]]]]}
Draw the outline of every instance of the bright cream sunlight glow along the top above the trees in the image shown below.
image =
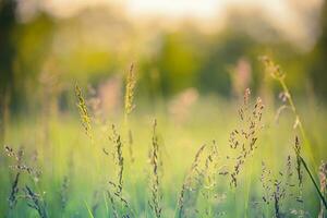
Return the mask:
{"type": "Polygon", "coordinates": [[[175,27],[175,23],[191,20],[208,32],[221,29],[231,10],[247,13],[258,11],[267,17],[276,31],[305,50],[316,40],[315,21],[323,0],[21,0],[20,2],[21,11],[26,17],[35,14],[35,8],[47,11],[55,17],[70,17],[85,9],[96,7],[111,9],[108,13],[114,12],[130,17],[138,25],[160,21],[167,27],[175,27]],[[31,7],[33,3],[34,8],[31,7]]]}

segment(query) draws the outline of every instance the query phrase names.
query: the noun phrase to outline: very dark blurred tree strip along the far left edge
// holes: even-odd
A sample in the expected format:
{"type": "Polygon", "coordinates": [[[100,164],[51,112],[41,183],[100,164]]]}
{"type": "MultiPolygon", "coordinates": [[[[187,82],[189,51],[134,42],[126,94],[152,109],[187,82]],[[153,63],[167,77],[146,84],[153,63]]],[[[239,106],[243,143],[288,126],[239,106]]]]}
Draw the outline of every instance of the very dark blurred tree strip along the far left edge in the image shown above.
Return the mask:
{"type": "Polygon", "coordinates": [[[15,22],[16,1],[0,1],[0,143],[3,142],[4,128],[9,119],[10,97],[14,83],[13,62],[15,45],[12,34],[15,22]]]}

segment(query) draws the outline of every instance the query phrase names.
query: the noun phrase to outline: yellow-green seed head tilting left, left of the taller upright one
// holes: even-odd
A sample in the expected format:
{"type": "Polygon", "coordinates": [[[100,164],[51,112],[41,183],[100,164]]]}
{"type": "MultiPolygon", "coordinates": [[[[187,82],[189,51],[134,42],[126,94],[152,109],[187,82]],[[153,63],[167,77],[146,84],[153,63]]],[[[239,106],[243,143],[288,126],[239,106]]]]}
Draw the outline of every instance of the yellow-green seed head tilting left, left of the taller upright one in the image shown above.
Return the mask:
{"type": "Polygon", "coordinates": [[[80,111],[82,125],[84,128],[85,134],[93,142],[94,137],[93,137],[93,130],[92,130],[92,125],[90,125],[90,116],[89,116],[89,112],[87,110],[85,98],[84,98],[83,93],[81,90],[81,87],[78,86],[77,83],[75,84],[75,95],[77,97],[77,108],[78,108],[78,111],[80,111]]]}

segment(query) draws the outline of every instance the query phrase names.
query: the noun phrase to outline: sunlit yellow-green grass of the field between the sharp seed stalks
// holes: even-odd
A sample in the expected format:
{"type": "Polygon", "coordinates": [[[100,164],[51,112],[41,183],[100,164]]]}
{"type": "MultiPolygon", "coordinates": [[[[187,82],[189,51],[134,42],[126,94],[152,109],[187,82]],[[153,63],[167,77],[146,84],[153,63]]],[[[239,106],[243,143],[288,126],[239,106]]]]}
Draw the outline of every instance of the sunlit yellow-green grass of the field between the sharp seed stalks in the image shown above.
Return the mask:
{"type": "MultiPolygon", "coordinates": [[[[153,119],[157,118],[158,120],[158,143],[162,152],[162,174],[160,177],[162,217],[173,217],[184,178],[199,146],[204,143],[210,144],[213,140],[216,140],[219,156],[231,155],[228,144],[229,133],[240,123],[237,105],[211,98],[203,99],[190,109],[192,116],[184,123],[175,123],[173,118],[166,113],[149,116],[148,112],[136,111],[130,118],[130,126],[134,135],[135,161],[133,164],[130,161],[128,146],[124,146],[123,197],[129,202],[136,217],[154,217],[148,205],[150,198],[148,177],[152,170],[148,162],[148,149],[152,146],[153,119]],[[202,108],[203,110],[201,110],[202,108]]],[[[313,113],[307,107],[300,106],[300,111],[303,114],[303,122],[307,122],[306,128],[311,130],[310,133],[316,145],[312,155],[319,162],[326,159],[324,150],[327,137],[324,135],[323,128],[326,125],[326,110],[319,109],[318,112],[313,113]]],[[[207,202],[206,197],[201,194],[193,196],[194,193],[190,193],[190,198],[195,197],[196,199],[192,202],[193,205],[187,206],[196,208],[201,213],[193,216],[215,217],[213,213],[221,213],[223,217],[274,215],[274,205],[264,204],[262,198],[261,164],[265,161],[272,173],[278,175],[280,170],[284,170],[287,156],[291,155],[293,160],[295,158],[292,150],[295,134],[292,130],[292,119],[284,113],[277,124],[274,121],[274,107],[266,105],[265,128],[258,136],[258,148],[253,156],[246,159],[239,175],[238,186],[230,186],[229,177],[216,174],[217,185],[213,190],[203,186],[198,190],[199,192],[209,191],[211,196],[217,194],[219,201],[207,202]],[[211,216],[206,213],[207,207],[211,216]]],[[[49,217],[89,217],[90,215],[108,217],[108,214],[112,214],[106,190],[109,189],[108,181],[116,177],[116,166],[112,158],[102,152],[104,147],[107,147],[110,153],[113,150],[113,146],[108,140],[109,123],[106,126],[94,125],[96,138],[94,144],[83,132],[76,113],[65,114],[64,119],[60,119],[60,116],[49,118],[48,138],[43,136],[45,129],[43,123],[37,120],[26,119],[11,123],[7,131],[5,144],[15,149],[24,146],[26,165],[33,165],[43,172],[36,183],[27,173],[23,173],[19,185],[22,189],[24,184],[28,184],[34,190],[38,190],[38,193],[45,192],[43,197],[49,217]],[[102,128],[105,129],[102,130],[102,128]],[[31,157],[35,150],[38,153],[38,159],[33,162],[31,157]],[[60,190],[64,177],[69,178],[69,185],[65,193],[66,205],[64,209],[61,209],[60,190]],[[95,205],[98,206],[93,211],[95,205]]],[[[118,131],[122,129],[122,125],[118,124],[118,131]]],[[[303,156],[308,157],[308,154],[303,154],[303,156]]],[[[229,165],[229,162],[225,162],[223,158],[220,158],[218,162],[221,166],[229,165]]],[[[12,158],[5,157],[2,153],[0,167],[1,214],[10,217],[37,216],[37,213],[27,206],[24,198],[19,198],[15,208],[9,209],[7,198],[14,179],[14,171],[9,168],[10,165],[13,165],[12,158]]],[[[230,167],[227,166],[227,168],[230,167]]],[[[316,217],[319,210],[319,196],[307,174],[303,173],[303,204],[296,202],[295,197],[287,196],[282,201],[281,211],[290,214],[292,209],[303,209],[316,217]]],[[[317,169],[314,171],[314,177],[317,180],[317,169]]],[[[298,193],[299,191],[294,189],[293,192],[298,193]]]]}

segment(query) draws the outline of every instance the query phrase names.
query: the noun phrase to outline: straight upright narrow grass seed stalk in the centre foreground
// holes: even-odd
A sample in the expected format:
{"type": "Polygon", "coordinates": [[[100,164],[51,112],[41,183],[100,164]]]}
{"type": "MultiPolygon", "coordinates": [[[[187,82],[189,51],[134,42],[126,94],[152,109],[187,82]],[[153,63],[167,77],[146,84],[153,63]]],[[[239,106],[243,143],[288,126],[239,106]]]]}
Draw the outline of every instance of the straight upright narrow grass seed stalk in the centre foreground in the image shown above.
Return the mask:
{"type": "Polygon", "coordinates": [[[149,207],[152,208],[155,217],[160,218],[162,213],[161,199],[162,194],[160,193],[160,179],[159,179],[159,143],[157,136],[157,120],[154,121],[153,125],[153,138],[152,138],[152,150],[150,150],[150,201],[149,207]]]}

